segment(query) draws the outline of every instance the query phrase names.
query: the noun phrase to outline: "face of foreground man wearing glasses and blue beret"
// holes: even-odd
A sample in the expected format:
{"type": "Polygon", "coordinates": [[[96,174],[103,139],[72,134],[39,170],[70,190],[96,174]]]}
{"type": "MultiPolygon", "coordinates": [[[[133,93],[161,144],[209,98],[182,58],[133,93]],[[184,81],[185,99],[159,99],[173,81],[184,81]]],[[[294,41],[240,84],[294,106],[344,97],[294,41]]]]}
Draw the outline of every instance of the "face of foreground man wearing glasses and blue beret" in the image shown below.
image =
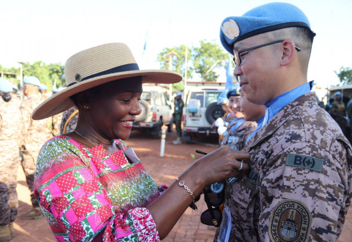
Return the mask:
{"type": "MultiPolygon", "coordinates": [[[[268,42],[262,35],[255,35],[234,44],[234,51],[268,42]]],[[[241,53],[242,62],[234,69],[247,99],[256,104],[265,104],[278,96],[280,85],[276,81],[279,44],[264,46],[241,53]]]]}

